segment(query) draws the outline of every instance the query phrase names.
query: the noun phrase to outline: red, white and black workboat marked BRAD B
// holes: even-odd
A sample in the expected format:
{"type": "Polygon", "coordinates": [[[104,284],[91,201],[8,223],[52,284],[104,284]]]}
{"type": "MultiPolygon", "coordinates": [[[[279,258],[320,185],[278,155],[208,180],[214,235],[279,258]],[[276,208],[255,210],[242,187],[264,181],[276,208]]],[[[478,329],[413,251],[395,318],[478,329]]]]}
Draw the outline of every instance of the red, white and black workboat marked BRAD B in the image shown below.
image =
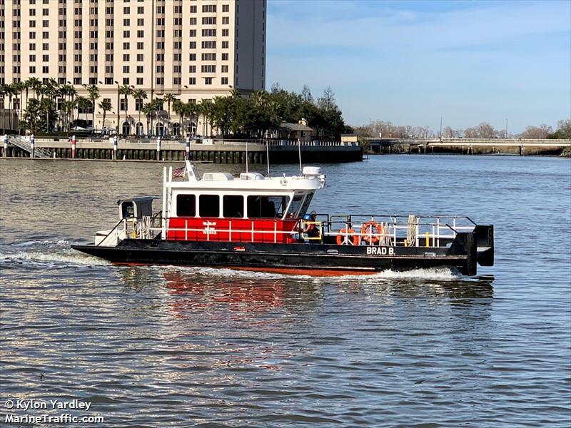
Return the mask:
{"type": "Polygon", "coordinates": [[[155,196],[118,200],[118,221],[75,250],[127,265],[187,265],[302,275],[360,275],[451,267],[476,275],[494,263],[493,225],[456,215],[310,211],[321,168],[298,175],[163,168],[155,196]]]}

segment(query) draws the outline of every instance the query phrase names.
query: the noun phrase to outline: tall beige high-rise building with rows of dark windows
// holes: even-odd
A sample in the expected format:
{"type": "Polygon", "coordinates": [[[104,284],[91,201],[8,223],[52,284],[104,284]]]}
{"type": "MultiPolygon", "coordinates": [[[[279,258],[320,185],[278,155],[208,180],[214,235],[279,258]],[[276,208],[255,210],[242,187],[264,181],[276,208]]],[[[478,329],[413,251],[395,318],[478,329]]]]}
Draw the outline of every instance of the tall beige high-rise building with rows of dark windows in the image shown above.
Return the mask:
{"type": "MultiPolygon", "coordinates": [[[[106,123],[101,108],[93,124],[91,111],[80,117],[97,129],[148,133],[141,106],[131,96],[125,106],[119,86],[146,91],[143,103],[166,93],[200,102],[263,89],[265,69],[266,0],[0,0],[0,83],[55,78],[82,96],[96,85],[96,103],[108,99],[112,113],[106,123]]],[[[169,133],[178,121],[171,112],[169,133]]],[[[209,133],[201,119],[193,126],[209,133]]]]}

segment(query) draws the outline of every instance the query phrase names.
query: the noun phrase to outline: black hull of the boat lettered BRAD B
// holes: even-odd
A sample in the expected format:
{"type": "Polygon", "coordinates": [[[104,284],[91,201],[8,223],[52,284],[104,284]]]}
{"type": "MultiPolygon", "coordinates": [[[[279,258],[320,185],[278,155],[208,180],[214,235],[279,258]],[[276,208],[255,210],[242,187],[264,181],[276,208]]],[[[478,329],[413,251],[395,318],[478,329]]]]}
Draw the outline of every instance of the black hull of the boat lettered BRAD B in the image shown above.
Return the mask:
{"type": "MultiPolygon", "coordinates": [[[[116,247],[72,245],[75,250],[112,263],[231,267],[308,275],[345,275],[383,270],[455,267],[475,275],[476,239],[458,233],[449,248],[376,247],[363,245],[221,243],[126,239],[116,247]]],[[[482,263],[483,264],[483,263],[482,263]]]]}

